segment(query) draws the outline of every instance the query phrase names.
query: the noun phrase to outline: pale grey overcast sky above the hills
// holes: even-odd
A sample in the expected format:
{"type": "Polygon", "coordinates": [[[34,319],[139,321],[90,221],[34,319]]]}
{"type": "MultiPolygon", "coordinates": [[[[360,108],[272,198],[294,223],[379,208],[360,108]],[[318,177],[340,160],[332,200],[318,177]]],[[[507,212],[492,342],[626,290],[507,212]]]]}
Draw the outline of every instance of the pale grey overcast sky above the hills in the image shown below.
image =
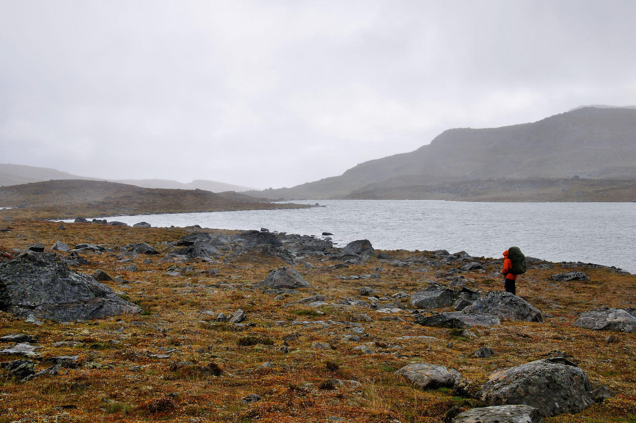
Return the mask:
{"type": "Polygon", "coordinates": [[[636,1],[0,0],[0,162],[266,188],[636,104],[636,1]]]}

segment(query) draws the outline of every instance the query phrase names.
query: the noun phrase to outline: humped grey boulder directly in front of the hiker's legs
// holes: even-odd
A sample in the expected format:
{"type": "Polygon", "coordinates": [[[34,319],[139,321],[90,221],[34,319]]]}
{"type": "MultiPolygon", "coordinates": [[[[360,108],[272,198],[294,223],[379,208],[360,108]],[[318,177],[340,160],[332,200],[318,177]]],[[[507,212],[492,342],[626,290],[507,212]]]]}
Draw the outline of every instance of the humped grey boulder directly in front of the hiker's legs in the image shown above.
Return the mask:
{"type": "Polygon", "coordinates": [[[501,320],[543,322],[543,316],[539,309],[533,307],[522,297],[505,291],[486,292],[473,305],[464,308],[462,313],[495,315],[501,320]]]}

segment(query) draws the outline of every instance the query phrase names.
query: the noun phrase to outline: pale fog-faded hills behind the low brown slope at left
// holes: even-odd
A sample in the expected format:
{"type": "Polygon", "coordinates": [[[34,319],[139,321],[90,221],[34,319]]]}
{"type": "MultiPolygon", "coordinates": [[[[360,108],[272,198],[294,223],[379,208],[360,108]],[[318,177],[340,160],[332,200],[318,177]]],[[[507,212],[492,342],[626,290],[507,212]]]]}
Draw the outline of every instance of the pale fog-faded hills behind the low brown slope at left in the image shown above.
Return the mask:
{"type": "MultiPolygon", "coordinates": [[[[48,167],[25,166],[21,164],[0,163],[0,185],[18,185],[29,182],[50,181],[51,179],[85,179],[91,181],[103,181],[99,178],[88,178],[67,172],[60,172],[48,167]]],[[[255,190],[249,186],[232,185],[223,182],[206,181],[196,179],[195,181],[182,183],[170,179],[107,179],[109,182],[136,185],[144,188],[167,188],[172,190],[205,190],[211,192],[224,191],[247,191],[255,190]]]]}

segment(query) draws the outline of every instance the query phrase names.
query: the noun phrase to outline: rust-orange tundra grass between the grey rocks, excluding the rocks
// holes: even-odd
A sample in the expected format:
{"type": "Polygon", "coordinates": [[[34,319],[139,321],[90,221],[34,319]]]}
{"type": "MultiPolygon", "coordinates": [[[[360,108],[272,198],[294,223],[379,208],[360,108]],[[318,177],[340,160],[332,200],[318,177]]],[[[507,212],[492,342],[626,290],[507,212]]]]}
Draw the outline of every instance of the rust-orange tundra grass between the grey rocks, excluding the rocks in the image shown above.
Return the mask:
{"type": "MultiPolygon", "coordinates": [[[[175,228],[121,228],[116,226],[68,224],[66,230],[58,230],[58,224],[45,221],[13,219],[2,222],[0,228],[10,226],[9,232],[0,232],[0,249],[24,248],[33,242],[43,242],[47,247],[56,240],[67,244],[99,242],[109,247],[119,247],[132,242],[148,242],[156,245],[162,241],[174,241],[186,230],[175,228]]],[[[168,247],[156,245],[165,253],[168,247]]],[[[389,252],[397,258],[428,256],[426,252],[389,252]]],[[[518,294],[544,313],[551,313],[546,322],[503,322],[501,327],[473,330],[476,339],[455,337],[448,329],[413,325],[410,311],[400,313],[406,322],[385,322],[385,317],[366,308],[322,308],[324,315],[307,306],[283,307],[284,303],[306,297],[312,292],[328,296],[328,303],[341,297],[355,297],[357,290],[371,286],[381,294],[400,290],[411,293],[433,279],[437,269],[431,272],[413,268],[392,268],[377,259],[363,266],[328,270],[324,263],[316,268],[296,269],[310,282],[311,287],[298,290],[297,294],[277,301],[273,296],[261,294],[258,289],[244,289],[251,283],[263,280],[268,271],[284,263],[259,254],[245,254],[239,259],[229,259],[223,264],[194,264],[195,271],[219,268],[216,277],[169,277],[164,274],[169,264],[143,264],[146,257],[135,259],[137,272],[114,270],[121,263],[116,253],[86,254],[93,264],[79,266],[78,271],[93,273],[97,268],[111,276],[123,275],[127,285],[107,283],[114,290],[125,291],[127,296],[140,304],[148,313],[137,316],[121,316],[95,322],[61,325],[46,322],[36,327],[11,315],[0,314],[0,335],[28,333],[39,336],[39,343],[46,346],[43,357],[79,355],[80,363],[96,362],[107,368],[63,369],[62,374],[34,379],[27,384],[0,379],[3,392],[4,421],[30,417],[39,421],[212,421],[212,422],[323,422],[329,415],[337,415],[350,422],[440,422],[443,414],[453,405],[463,408],[478,407],[479,401],[453,396],[448,389],[422,391],[415,389],[405,379],[394,375],[397,368],[411,362],[426,361],[456,368],[478,387],[489,372],[497,368],[536,360],[550,351],[567,351],[576,356],[579,365],[588,374],[594,387],[609,384],[618,396],[604,403],[593,405],[577,415],[559,415],[544,419],[555,422],[625,422],[633,421],[636,414],[636,351],[633,348],[636,334],[602,332],[572,327],[577,313],[605,306],[628,307],[636,301],[636,276],[619,275],[607,270],[576,268],[590,275],[590,282],[558,283],[550,280],[551,273],[568,271],[567,265],[554,264],[551,270],[529,270],[518,280],[518,294]],[[384,266],[380,280],[338,280],[335,275],[361,275],[371,273],[376,266],[384,266]],[[149,282],[135,282],[135,281],[149,282]],[[218,282],[232,285],[217,285],[218,282]],[[252,328],[239,328],[227,323],[205,322],[201,309],[232,313],[242,308],[252,328]],[[292,320],[335,320],[350,322],[356,313],[368,313],[373,322],[363,323],[369,337],[372,355],[360,355],[350,351],[360,342],[342,341],[343,334],[352,334],[346,327],[331,325],[320,329],[317,325],[291,325],[292,320]],[[142,321],[145,326],[132,326],[132,321],[142,321]],[[282,323],[276,323],[282,322],[282,323]],[[95,324],[93,324],[95,323],[95,324]],[[124,327],[122,333],[115,332],[124,327]],[[300,337],[289,341],[289,354],[279,351],[283,338],[289,334],[300,337]],[[272,346],[240,346],[245,335],[266,337],[272,346]],[[419,339],[398,340],[402,335],[428,335],[439,341],[424,342],[419,339]],[[605,341],[609,335],[611,342],[605,341]],[[106,341],[117,339],[119,345],[109,346],[106,341]],[[57,341],[79,341],[75,348],[53,348],[57,341]],[[313,341],[328,342],[334,349],[312,349],[313,341]],[[446,344],[453,341],[452,348],[446,344]],[[495,356],[478,359],[472,356],[482,345],[490,346],[495,356]],[[169,359],[151,358],[161,353],[161,347],[175,347],[169,359]],[[399,348],[399,349],[398,349],[399,348]],[[398,351],[408,358],[398,358],[391,353],[398,351]],[[382,355],[381,353],[389,353],[382,355]],[[198,365],[217,363],[223,368],[219,377],[205,376],[196,371],[170,370],[170,364],[191,361],[198,365]],[[259,368],[271,361],[273,368],[259,368]],[[339,365],[329,370],[328,361],[339,365]],[[141,370],[128,370],[132,366],[144,366],[141,370]],[[338,389],[301,391],[298,386],[311,382],[319,386],[329,379],[355,379],[361,387],[344,386],[338,389]],[[177,393],[170,401],[167,394],[177,393]],[[256,393],[263,400],[253,405],[241,405],[246,394],[256,393]],[[112,400],[106,403],[102,398],[112,400]],[[74,405],[77,408],[55,410],[53,407],[74,405]],[[156,406],[156,407],[155,407],[156,406]]],[[[576,257],[573,257],[576,259],[576,257]]],[[[333,262],[329,263],[332,264],[333,262]]],[[[448,266],[443,266],[444,268],[448,266]]],[[[474,279],[474,287],[483,290],[501,290],[501,279],[492,277],[498,266],[489,266],[488,273],[466,273],[474,279]]],[[[3,360],[10,360],[5,356],[3,360]]],[[[36,370],[48,366],[36,361],[36,370]]]]}

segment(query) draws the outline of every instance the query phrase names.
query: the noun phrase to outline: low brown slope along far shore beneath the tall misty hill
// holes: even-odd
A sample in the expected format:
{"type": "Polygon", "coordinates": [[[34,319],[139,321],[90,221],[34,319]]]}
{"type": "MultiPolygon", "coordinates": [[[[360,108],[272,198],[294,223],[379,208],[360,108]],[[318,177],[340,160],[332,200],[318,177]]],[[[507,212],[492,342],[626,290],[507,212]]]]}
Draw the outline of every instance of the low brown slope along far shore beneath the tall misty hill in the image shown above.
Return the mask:
{"type": "Polygon", "coordinates": [[[574,202],[636,200],[636,179],[495,179],[401,185],[365,186],[345,197],[350,200],[453,200],[509,202],[574,202]]]}

